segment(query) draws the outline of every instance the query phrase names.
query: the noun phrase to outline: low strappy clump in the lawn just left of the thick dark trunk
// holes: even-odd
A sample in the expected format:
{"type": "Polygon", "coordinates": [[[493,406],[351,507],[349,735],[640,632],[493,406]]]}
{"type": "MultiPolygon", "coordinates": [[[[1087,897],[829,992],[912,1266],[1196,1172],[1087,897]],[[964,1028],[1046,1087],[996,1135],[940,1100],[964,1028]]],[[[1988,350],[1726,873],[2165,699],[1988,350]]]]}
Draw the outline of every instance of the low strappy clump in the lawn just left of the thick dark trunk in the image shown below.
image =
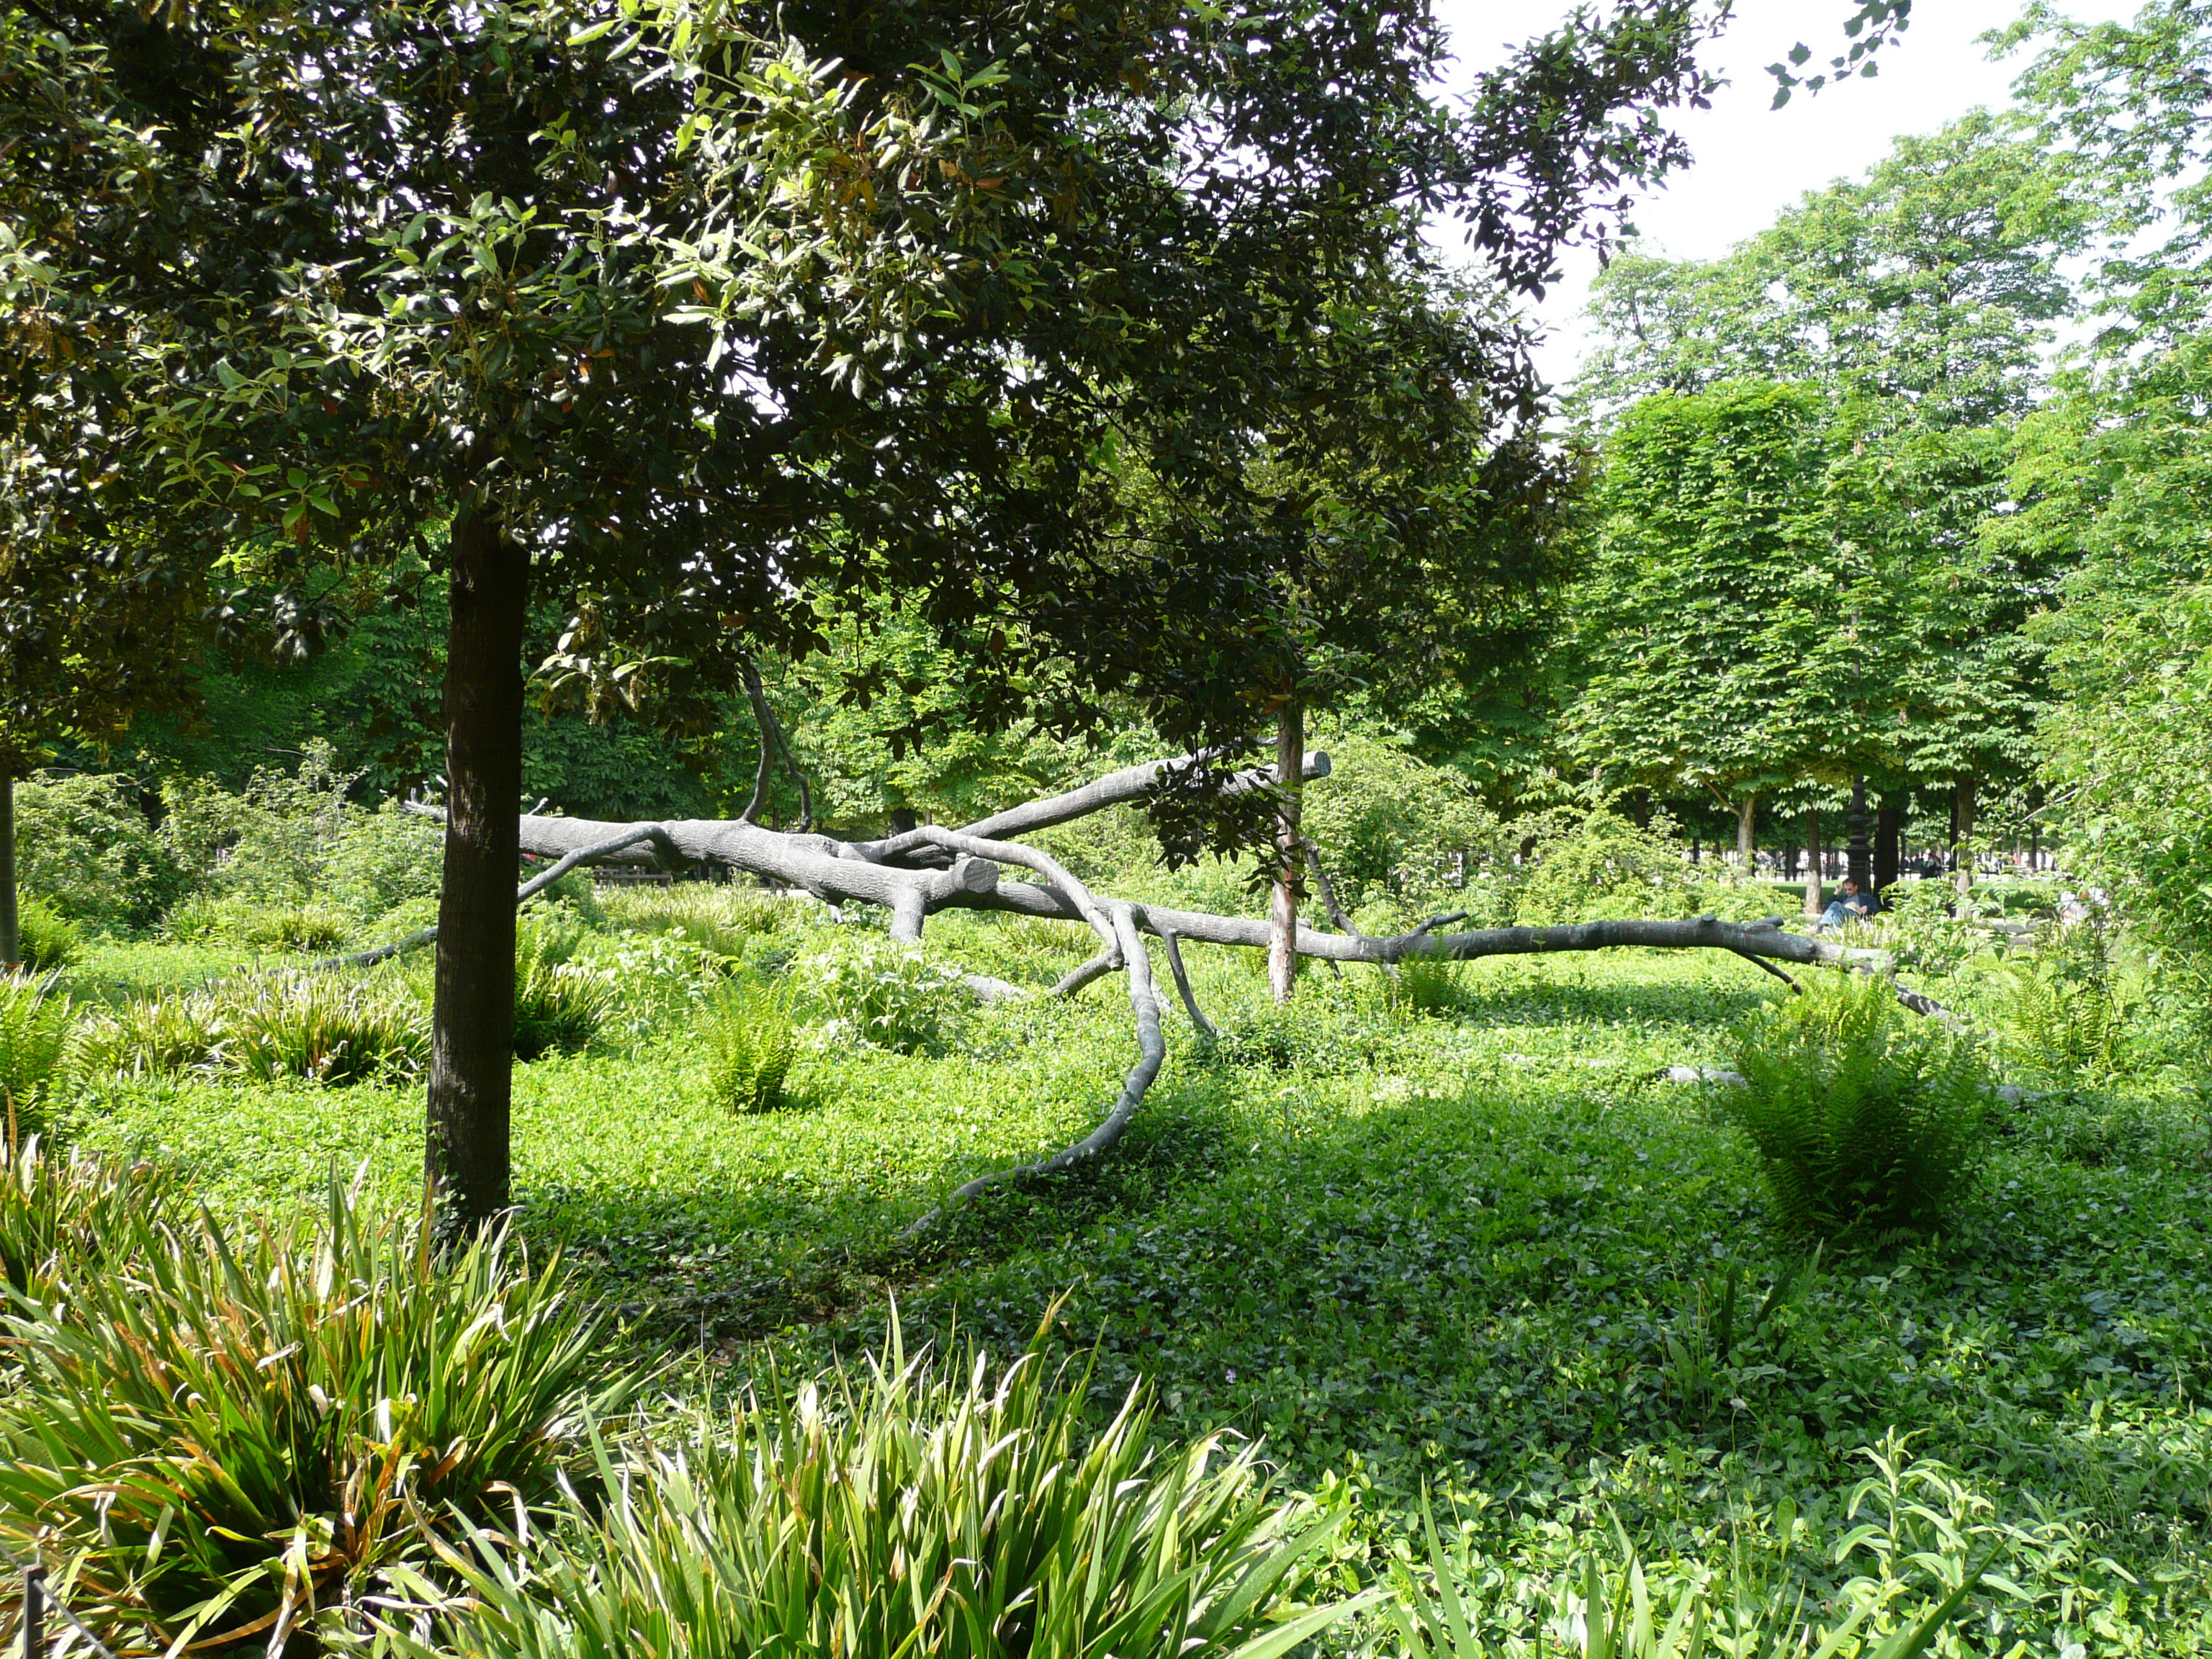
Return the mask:
{"type": "Polygon", "coordinates": [[[219,1020],[221,1064],[265,1084],[411,1077],[429,1060],[422,1006],[383,978],[285,973],[248,980],[221,998],[219,1020]]]}

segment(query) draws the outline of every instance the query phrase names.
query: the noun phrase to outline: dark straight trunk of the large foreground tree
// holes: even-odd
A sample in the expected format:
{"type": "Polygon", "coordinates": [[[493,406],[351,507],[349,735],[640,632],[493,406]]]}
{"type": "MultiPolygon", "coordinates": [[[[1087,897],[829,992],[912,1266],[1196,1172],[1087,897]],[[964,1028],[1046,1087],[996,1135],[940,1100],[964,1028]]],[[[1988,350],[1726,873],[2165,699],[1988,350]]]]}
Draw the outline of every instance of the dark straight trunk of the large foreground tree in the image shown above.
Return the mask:
{"type": "Polygon", "coordinates": [[[529,551],[482,509],[451,542],[445,659],[445,887],[431,1002],[425,1179],[442,1237],[509,1206],[515,1042],[515,865],[529,551]]]}

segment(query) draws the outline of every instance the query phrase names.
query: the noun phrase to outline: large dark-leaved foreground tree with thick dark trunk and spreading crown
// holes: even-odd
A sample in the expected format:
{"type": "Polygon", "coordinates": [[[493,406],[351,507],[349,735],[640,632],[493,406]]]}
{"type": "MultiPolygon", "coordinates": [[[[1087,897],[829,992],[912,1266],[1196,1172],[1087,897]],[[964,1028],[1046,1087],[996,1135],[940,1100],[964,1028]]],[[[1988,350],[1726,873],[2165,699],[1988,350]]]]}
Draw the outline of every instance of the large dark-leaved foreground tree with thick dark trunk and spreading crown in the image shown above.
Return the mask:
{"type": "Polygon", "coordinates": [[[15,535],[447,571],[427,1177],[473,1223],[509,1197],[533,586],[573,611],[562,677],[657,681],[672,721],[818,644],[818,595],[889,591],[1241,732],[1190,695],[1239,675],[1150,646],[1157,599],[1097,604],[1102,442],[1208,507],[1179,566],[1250,619],[1252,538],[1217,531],[1265,518],[1241,434],[1307,385],[1323,296],[1433,208],[1540,285],[1593,190],[1679,155],[1650,111],[1701,91],[1708,27],[1579,22],[1451,119],[1418,9],[9,7],[0,254],[46,343],[9,369],[15,535]]]}

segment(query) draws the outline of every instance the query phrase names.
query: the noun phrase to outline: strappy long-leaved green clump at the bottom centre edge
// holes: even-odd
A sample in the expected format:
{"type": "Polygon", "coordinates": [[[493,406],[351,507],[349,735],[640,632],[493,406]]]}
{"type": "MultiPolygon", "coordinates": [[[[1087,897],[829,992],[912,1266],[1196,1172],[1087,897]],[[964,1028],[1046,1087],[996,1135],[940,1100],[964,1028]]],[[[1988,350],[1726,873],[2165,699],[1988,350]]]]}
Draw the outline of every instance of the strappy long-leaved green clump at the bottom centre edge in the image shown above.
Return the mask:
{"type": "Polygon", "coordinates": [[[1287,1652],[1274,1624],[1334,1524],[1270,1500],[1252,1451],[1152,1442],[1133,1394],[1102,1431],[1035,1354],[993,1378],[872,1365],[748,1402],[562,1504],[522,1566],[478,1540],[469,1599],[416,1659],[945,1655],[1214,1659],[1287,1652]]]}

